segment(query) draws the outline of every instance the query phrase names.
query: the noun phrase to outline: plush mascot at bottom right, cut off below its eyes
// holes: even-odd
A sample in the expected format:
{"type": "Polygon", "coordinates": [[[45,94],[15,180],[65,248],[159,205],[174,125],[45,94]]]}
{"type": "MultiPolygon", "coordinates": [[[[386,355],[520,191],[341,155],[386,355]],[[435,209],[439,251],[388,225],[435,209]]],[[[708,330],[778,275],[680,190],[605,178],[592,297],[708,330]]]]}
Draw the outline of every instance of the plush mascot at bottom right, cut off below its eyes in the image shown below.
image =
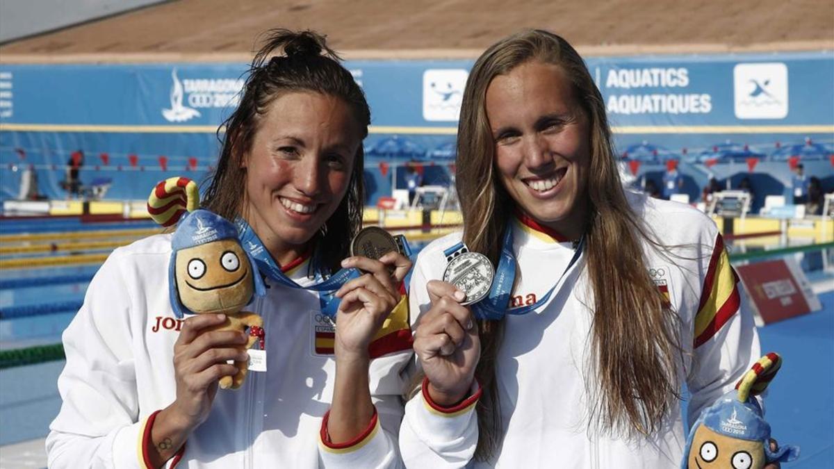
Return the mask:
{"type": "Polygon", "coordinates": [[[701,412],[686,441],[682,469],[761,469],[799,456],[796,446],[771,451],[771,426],[754,397],[765,391],[780,367],[781,356],[761,357],[734,391],[701,412]]]}

